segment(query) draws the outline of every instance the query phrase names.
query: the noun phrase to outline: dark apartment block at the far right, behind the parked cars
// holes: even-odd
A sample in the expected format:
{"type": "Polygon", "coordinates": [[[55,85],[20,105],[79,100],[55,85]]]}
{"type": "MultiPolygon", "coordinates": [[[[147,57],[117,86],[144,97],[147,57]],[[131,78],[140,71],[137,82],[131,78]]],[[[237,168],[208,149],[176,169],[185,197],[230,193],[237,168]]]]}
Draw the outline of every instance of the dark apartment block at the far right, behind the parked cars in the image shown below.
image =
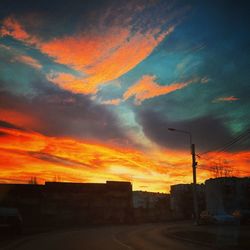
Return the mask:
{"type": "Polygon", "coordinates": [[[250,210],[250,178],[223,177],[205,182],[207,211],[231,214],[250,210]]]}

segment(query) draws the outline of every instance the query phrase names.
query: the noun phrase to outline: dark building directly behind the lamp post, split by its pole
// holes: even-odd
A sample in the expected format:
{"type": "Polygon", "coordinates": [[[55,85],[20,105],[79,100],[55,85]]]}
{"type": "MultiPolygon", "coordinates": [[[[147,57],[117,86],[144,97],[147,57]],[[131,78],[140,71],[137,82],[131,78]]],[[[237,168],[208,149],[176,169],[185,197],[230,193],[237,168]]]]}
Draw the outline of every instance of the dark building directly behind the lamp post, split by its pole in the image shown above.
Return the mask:
{"type": "MultiPolygon", "coordinates": [[[[175,219],[191,219],[193,217],[193,185],[177,184],[170,187],[172,214],[175,219]]],[[[197,184],[197,200],[199,211],[205,209],[205,187],[197,184]]]]}

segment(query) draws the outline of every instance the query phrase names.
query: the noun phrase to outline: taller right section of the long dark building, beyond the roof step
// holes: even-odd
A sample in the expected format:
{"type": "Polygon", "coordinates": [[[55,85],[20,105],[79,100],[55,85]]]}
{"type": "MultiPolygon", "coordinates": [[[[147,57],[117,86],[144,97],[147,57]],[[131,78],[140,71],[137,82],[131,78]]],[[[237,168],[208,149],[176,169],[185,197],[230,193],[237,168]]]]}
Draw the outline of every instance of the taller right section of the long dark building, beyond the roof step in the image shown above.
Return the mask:
{"type": "Polygon", "coordinates": [[[130,182],[46,182],[43,213],[52,220],[75,223],[124,223],[132,216],[130,182]]]}

